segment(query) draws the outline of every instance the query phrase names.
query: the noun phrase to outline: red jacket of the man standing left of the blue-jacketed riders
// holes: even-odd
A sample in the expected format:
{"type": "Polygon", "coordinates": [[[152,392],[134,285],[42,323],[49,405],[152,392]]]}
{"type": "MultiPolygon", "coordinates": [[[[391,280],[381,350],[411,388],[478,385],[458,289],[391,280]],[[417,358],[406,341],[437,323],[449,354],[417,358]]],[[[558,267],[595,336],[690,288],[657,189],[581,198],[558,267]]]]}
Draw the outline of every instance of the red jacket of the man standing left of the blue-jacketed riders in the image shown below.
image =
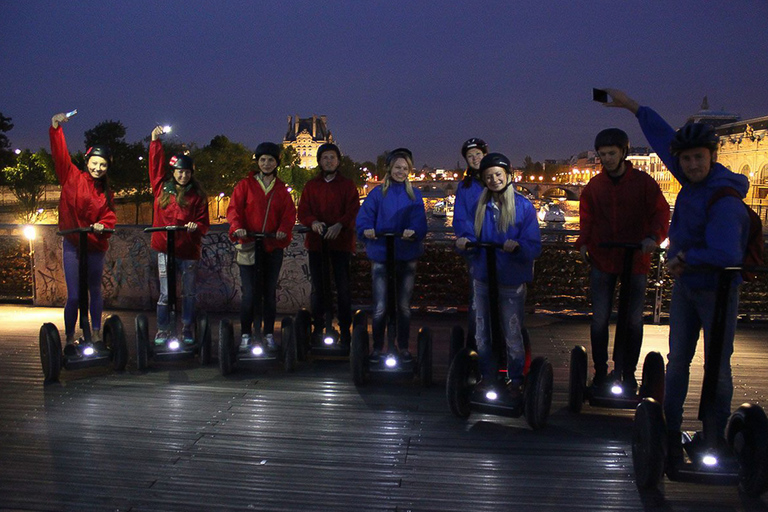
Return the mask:
{"type": "MultiPolygon", "coordinates": [[[[322,173],[309,180],[299,200],[299,223],[311,227],[315,221],[326,226],[341,223],[341,232],[335,240],[328,241],[332,251],[355,252],[355,219],[360,209],[360,195],[352,180],[340,173],[331,181],[325,181],[322,173]]],[[[314,231],[307,233],[304,246],[310,251],[322,248],[322,238],[314,231]]]]}

